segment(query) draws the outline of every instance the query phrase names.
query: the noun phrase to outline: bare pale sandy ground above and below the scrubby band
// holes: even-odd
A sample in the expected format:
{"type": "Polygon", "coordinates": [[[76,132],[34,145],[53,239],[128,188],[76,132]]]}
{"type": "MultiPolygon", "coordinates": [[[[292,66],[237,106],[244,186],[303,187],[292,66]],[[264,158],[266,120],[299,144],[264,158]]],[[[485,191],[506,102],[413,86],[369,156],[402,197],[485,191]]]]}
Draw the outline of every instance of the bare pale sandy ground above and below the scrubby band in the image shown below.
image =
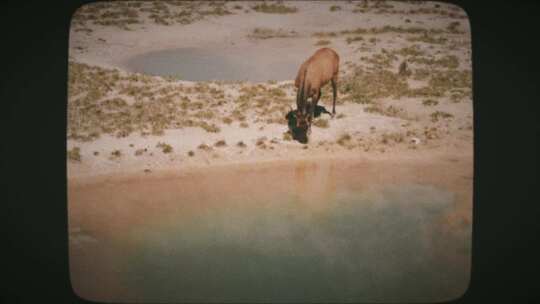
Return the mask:
{"type": "MultiPolygon", "coordinates": [[[[431,7],[434,2],[423,4],[407,4],[391,2],[396,9],[431,7]]],[[[228,5],[242,5],[249,7],[251,2],[234,2],[228,5]]],[[[289,4],[286,2],[286,4],[289,4]]],[[[303,54],[309,57],[318,46],[315,42],[320,40],[313,37],[314,32],[351,30],[358,27],[393,26],[425,26],[426,28],[444,29],[451,18],[434,14],[375,14],[352,13],[354,2],[317,2],[294,1],[290,3],[298,8],[295,14],[264,14],[250,11],[239,11],[234,15],[209,17],[188,25],[157,25],[145,22],[143,25],[134,25],[135,30],[126,31],[117,27],[107,27],[90,24],[92,32],[72,31],[70,35],[69,57],[74,62],[86,63],[93,66],[115,68],[123,73],[130,72],[126,62],[134,56],[151,51],[195,47],[219,49],[224,54],[238,56],[242,52],[256,52],[258,56],[276,57],[283,54],[303,54]],[[329,12],[331,5],[340,5],[343,9],[338,12],[329,12]],[[405,23],[405,19],[411,22],[405,23]],[[250,39],[248,35],[256,27],[271,29],[295,30],[299,33],[297,38],[272,38],[264,40],[250,39]],[[292,40],[291,40],[292,39],[292,40]]],[[[449,4],[440,4],[443,8],[449,4]]],[[[231,9],[232,10],[232,9],[231,9]]],[[[469,24],[466,19],[461,21],[462,34],[459,38],[463,43],[470,43],[469,24]]],[[[380,34],[375,45],[366,47],[369,52],[377,53],[383,48],[394,49],[409,46],[401,35],[380,34]],[[392,36],[393,35],[393,36],[392,36]],[[386,37],[386,38],[385,38],[386,37]]],[[[348,72],[347,62],[358,62],[366,55],[358,52],[358,44],[348,45],[344,38],[331,39],[330,47],[338,51],[341,58],[341,74],[348,72]]],[[[422,44],[421,42],[419,44],[422,44]]],[[[441,46],[426,47],[431,54],[452,54],[459,58],[459,67],[471,68],[470,49],[441,51],[441,46]]],[[[300,66],[301,62],[298,62],[300,66]]],[[[399,63],[398,63],[399,64],[399,63]]],[[[397,70],[397,66],[394,67],[397,70]]],[[[295,75],[290,79],[283,79],[276,85],[292,83],[295,75]]],[[[161,77],[155,77],[161,79],[161,77]]],[[[190,84],[188,81],[178,83],[190,84]]],[[[414,81],[409,81],[411,86],[414,81]]],[[[238,91],[234,85],[224,86],[226,94],[234,97],[238,91]]],[[[294,106],[294,91],[291,89],[291,106],[294,106]]],[[[339,98],[339,97],[338,97],[339,98]]],[[[248,121],[249,128],[242,128],[238,122],[231,125],[220,125],[219,133],[209,133],[201,128],[169,129],[162,136],[140,136],[133,133],[125,138],[116,138],[103,134],[97,140],[80,142],[69,139],[68,149],[80,147],[81,162],[68,161],[68,178],[76,180],[86,177],[96,177],[109,174],[142,173],[156,174],[158,171],[186,170],[188,168],[225,165],[231,163],[260,163],[279,159],[305,159],[305,158],[361,158],[361,159],[440,159],[470,158],[472,159],[472,100],[452,103],[448,98],[439,98],[437,107],[426,107],[421,98],[401,98],[393,100],[386,98],[381,101],[385,106],[399,105],[403,112],[397,117],[389,117],[377,113],[364,111],[366,105],[345,103],[336,106],[337,113],[346,116],[330,120],[328,128],[314,127],[310,143],[299,144],[295,141],[284,141],[282,136],[286,126],[281,124],[265,124],[248,121]],[[433,123],[429,120],[429,113],[434,110],[452,113],[454,118],[450,121],[441,120],[433,123]],[[392,132],[406,132],[417,130],[422,132],[426,127],[438,127],[441,131],[440,139],[418,141],[415,136],[407,136],[401,145],[380,144],[373,141],[372,135],[392,132]],[[364,148],[347,149],[335,143],[337,138],[349,133],[355,138],[365,137],[369,142],[364,148]],[[257,139],[267,138],[275,142],[269,144],[270,148],[260,149],[256,146],[257,139]],[[226,147],[214,147],[212,151],[201,151],[197,147],[206,143],[212,146],[218,140],[225,140],[226,147]],[[240,148],[236,143],[243,141],[247,147],[240,148]],[[173,147],[173,152],[164,154],[156,147],[159,142],[165,142],[173,147]],[[147,149],[147,152],[135,156],[137,149],[147,149]],[[110,159],[110,153],[121,150],[123,156],[119,159],[110,159]],[[194,156],[188,152],[193,151],[194,156]],[[99,152],[98,155],[94,155],[99,152]]],[[[323,105],[329,108],[330,100],[322,100],[323,105]]]]}

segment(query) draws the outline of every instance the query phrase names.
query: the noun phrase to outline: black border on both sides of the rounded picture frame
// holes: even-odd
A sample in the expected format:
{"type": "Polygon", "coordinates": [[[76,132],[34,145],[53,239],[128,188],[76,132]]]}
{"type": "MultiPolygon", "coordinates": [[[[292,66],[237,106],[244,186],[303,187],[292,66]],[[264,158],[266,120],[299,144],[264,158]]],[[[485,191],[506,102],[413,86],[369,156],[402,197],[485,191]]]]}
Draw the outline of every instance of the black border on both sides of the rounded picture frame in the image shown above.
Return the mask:
{"type": "MultiPolygon", "coordinates": [[[[86,303],[69,283],[65,134],[69,23],[88,2],[0,9],[4,303],[86,303]]],[[[533,302],[540,293],[540,5],[449,2],[470,18],[475,120],[471,283],[454,302],[533,302]]]]}

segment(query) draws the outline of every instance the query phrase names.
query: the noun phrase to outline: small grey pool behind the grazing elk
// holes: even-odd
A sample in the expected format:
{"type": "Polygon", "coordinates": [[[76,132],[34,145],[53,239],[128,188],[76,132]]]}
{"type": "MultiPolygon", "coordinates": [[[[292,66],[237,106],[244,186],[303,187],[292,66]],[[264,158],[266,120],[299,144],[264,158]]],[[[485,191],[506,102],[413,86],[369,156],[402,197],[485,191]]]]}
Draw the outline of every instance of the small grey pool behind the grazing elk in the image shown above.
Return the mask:
{"type": "Polygon", "coordinates": [[[291,80],[311,50],[299,52],[258,45],[250,51],[181,48],[145,53],[125,62],[127,70],[190,81],[291,80]]]}

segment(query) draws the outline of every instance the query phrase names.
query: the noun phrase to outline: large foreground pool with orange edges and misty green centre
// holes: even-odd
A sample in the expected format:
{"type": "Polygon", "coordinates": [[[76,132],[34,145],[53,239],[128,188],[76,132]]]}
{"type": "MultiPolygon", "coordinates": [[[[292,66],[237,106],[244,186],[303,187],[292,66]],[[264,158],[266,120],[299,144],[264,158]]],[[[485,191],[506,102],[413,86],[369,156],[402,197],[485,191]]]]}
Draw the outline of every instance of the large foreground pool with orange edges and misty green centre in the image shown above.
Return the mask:
{"type": "Polygon", "coordinates": [[[73,288],[106,302],[460,296],[470,226],[444,224],[455,194],[429,183],[367,184],[361,171],[301,163],[73,187],[73,288]]]}

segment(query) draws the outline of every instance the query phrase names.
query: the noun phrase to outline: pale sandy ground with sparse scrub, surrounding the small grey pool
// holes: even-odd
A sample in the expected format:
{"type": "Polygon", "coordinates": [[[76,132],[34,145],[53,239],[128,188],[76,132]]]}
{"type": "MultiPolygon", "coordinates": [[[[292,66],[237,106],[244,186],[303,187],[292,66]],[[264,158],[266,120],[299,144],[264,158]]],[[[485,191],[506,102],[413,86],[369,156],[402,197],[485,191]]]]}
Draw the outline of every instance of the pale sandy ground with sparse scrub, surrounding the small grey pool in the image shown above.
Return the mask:
{"type": "MultiPolygon", "coordinates": [[[[206,170],[214,166],[251,166],[280,160],[378,161],[469,157],[472,163],[474,134],[472,97],[466,93],[468,87],[459,88],[465,91],[460,91],[462,95],[458,94],[461,98],[458,100],[452,99],[452,94],[457,94],[452,91],[454,88],[445,89],[441,97],[432,97],[427,91],[427,96],[374,96],[367,102],[356,100],[360,97],[353,96],[351,99],[339,93],[337,119],[319,118],[326,125],[314,128],[310,143],[305,146],[288,141],[284,134],[287,126],[283,121],[283,111],[286,113],[288,107],[294,104],[292,80],[276,79],[274,83],[233,81],[209,85],[211,82],[168,80],[164,76],[134,73],[126,67],[129,60],[149,52],[217,47],[223,49],[224,56],[234,56],[239,50],[255,52],[260,58],[275,57],[276,52],[290,52],[287,54],[298,57],[300,65],[300,59],[310,55],[311,50],[323,47],[318,46],[318,42],[327,40],[330,44],[325,46],[339,50],[342,61],[340,73],[351,73],[356,68],[362,68],[364,74],[366,71],[371,73],[368,75],[371,78],[367,80],[373,82],[368,84],[373,87],[370,87],[372,91],[391,90],[399,85],[399,80],[392,80],[394,82],[389,82],[387,86],[376,86],[384,81],[384,78],[380,79],[382,76],[393,79],[390,73],[396,73],[400,61],[406,59],[416,60],[416,65],[410,65],[411,69],[420,72],[424,69],[424,73],[429,65],[446,62],[444,60],[449,58],[456,60],[453,67],[436,65],[439,74],[434,73],[433,78],[444,76],[445,73],[459,77],[463,68],[470,69],[470,49],[467,48],[470,25],[463,15],[456,13],[459,8],[456,10],[451,4],[442,4],[439,10],[459,16],[438,18],[434,15],[436,12],[430,13],[428,9],[432,2],[389,3],[393,10],[417,10],[420,13],[378,13],[375,7],[358,14],[355,13],[358,9],[355,3],[340,2],[340,10],[331,11],[329,9],[335,5],[333,2],[299,1],[290,3],[298,9],[294,14],[265,14],[253,10],[252,3],[239,1],[221,6],[232,14],[208,15],[195,18],[188,24],[157,24],[142,11],[137,17],[139,22],[130,25],[130,30],[89,21],[94,19],[82,18],[83,22],[77,23],[75,18],[69,38],[69,58],[70,65],[73,62],[72,70],[78,74],[74,80],[73,94],[70,93],[68,97],[68,114],[76,118],[68,121],[68,127],[72,126],[73,130],[68,129],[67,146],[71,151],[77,148],[80,155],[78,161],[67,161],[68,183],[122,175],[149,177],[166,172],[206,170]],[[233,5],[243,6],[243,9],[236,10],[233,5]],[[421,9],[427,13],[422,13],[421,9]],[[461,22],[459,30],[447,30],[455,22],[461,22]],[[353,33],[343,34],[343,31],[354,32],[358,28],[384,29],[386,26],[443,31],[440,38],[448,41],[418,40],[425,37],[402,30],[368,32],[360,37],[355,37],[353,33]],[[263,29],[259,33],[268,31],[269,36],[254,38],[257,29],[263,29]],[[295,32],[292,37],[280,36],[291,32],[295,32]],[[414,53],[420,53],[419,57],[415,57],[417,55],[414,53]],[[432,63],[426,65],[425,62],[432,63]],[[77,65],[80,63],[90,66],[77,65]],[[382,70],[369,72],[373,67],[382,70]],[[102,68],[112,68],[113,71],[102,68]],[[102,78],[97,79],[99,77],[102,78]],[[89,83],[91,81],[95,82],[89,83]],[[111,89],[99,91],[104,83],[110,85],[111,89]],[[89,93],[97,97],[88,97],[89,93]],[[134,105],[142,106],[142,110],[134,105]],[[110,116],[94,116],[94,112],[87,109],[111,111],[119,116],[110,119],[110,116]],[[171,112],[174,112],[174,119],[162,119],[171,112]],[[118,118],[124,120],[125,116],[120,114],[126,113],[129,121],[139,119],[137,115],[144,117],[146,113],[152,113],[152,117],[144,121],[139,119],[143,122],[138,124],[115,124],[118,118]],[[343,117],[339,118],[339,114],[343,117]],[[87,119],[95,121],[79,125],[80,121],[87,119]],[[160,125],[157,135],[143,135],[153,134],[154,130],[147,127],[152,125],[153,128],[154,123],[164,126],[160,125]],[[102,129],[103,126],[107,130],[102,129]],[[98,136],[92,137],[93,132],[97,132],[98,136]],[[134,134],[136,132],[141,135],[134,134]],[[77,136],[86,136],[87,139],[77,136]],[[218,146],[220,141],[226,142],[226,145],[218,146]],[[161,143],[171,147],[172,152],[162,153],[161,143]],[[239,146],[240,143],[243,146],[239,146]],[[140,150],[144,152],[139,153],[140,150]],[[121,156],[113,157],[117,151],[121,156]]],[[[207,4],[204,3],[202,7],[207,4]]],[[[106,8],[102,10],[113,9],[114,5],[105,5],[106,8]]],[[[154,4],[138,5],[146,7],[154,4]]],[[[90,9],[98,6],[89,4],[81,11],[91,14],[90,9]]],[[[170,4],[164,7],[179,9],[170,4]]],[[[161,8],[156,6],[152,9],[161,8]]],[[[195,14],[196,11],[200,13],[201,9],[214,8],[210,5],[208,8],[194,6],[188,11],[195,14]]],[[[405,82],[409,85],[408,89],[413,91],[418,88],[431,89],[429,80],[419,81],[412,77],[405,82]],[[427,83],[427,86],[421,87],[422,83],[427,83]]],[[[338,82],[338,86],[346,85],[338,82]]],[[[371,94],[370,90],[360,92],[371,94]]],[[[324,95],[319,104],[328,106],[329,94],[324,95]]]]}

